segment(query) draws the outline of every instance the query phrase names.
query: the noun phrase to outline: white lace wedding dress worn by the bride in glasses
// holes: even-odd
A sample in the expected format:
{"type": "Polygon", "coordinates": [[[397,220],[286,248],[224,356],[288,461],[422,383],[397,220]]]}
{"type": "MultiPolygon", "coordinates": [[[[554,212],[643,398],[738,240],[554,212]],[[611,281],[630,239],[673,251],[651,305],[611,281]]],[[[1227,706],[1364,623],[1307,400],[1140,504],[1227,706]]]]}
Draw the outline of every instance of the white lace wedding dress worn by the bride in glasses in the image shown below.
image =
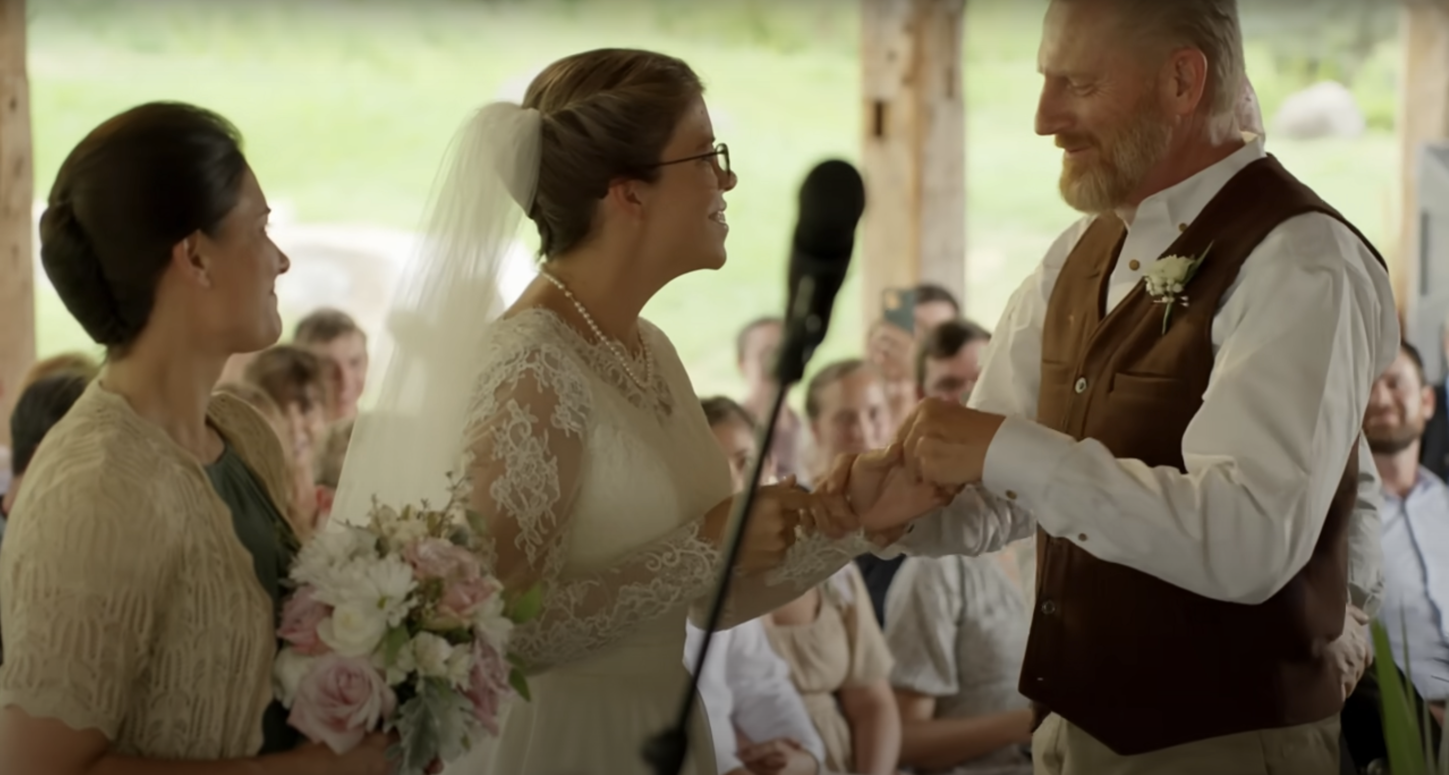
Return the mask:
{"type": "MultiPolygon", "coordinates": [[[[701,517],[730,493],[723,453],[659,329],[649,390],[604,345],[536,309],[490,326],[467,427],[487,558],[506,584],[542,582],[542,616],[517,629],[532,701],[514,700],[491,766],[449,772],[648,774],[640,750],[678,710],[685,617],[714,585],[720,553],[701,517]]],[[[646,364],[630,364],[640,377],[646,364]]],[[[867,549],[800,540],[780,571],[735,585],[726,626],[793,600],[867,549]]],[[[713,775],[701,705],[685,772],[713,775]]]]}

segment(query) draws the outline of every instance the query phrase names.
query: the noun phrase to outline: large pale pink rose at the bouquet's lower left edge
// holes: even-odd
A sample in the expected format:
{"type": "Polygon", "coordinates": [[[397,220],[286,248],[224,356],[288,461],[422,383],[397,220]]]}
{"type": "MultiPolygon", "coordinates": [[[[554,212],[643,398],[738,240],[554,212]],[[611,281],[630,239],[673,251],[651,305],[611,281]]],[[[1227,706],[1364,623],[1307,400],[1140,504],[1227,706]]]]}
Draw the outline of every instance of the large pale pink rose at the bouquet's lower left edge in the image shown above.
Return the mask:
{"type": "Polygon", "coordinates": [[[397,695],[365,659],[327,655],[297,685],[287,723],[314,743],[346,753],[378,729],[397,695]]]}

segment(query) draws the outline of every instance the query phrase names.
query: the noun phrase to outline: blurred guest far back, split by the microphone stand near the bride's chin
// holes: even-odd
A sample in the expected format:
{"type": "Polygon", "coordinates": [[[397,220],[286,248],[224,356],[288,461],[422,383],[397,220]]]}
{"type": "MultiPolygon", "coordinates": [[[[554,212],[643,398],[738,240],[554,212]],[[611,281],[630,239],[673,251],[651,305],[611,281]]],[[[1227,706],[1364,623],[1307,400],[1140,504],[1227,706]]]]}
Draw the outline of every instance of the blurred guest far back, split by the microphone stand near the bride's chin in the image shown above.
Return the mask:
{"type": "MultiPolygon", "coordinates": [[[[742,406],[756,423],[765,420],[775,400],[775,358],[780,339],[784,336],[784,322],[778,317],[761,317],[740,329],[735,339],[735,362],[745,377],[745,401],[742,406]]],[[[809,439],[804,423],[790,404],[780,407],[775,420],[775,436],[769,443],[769,455],[775,461],[777,474],[806,478],[809,439]]]]}

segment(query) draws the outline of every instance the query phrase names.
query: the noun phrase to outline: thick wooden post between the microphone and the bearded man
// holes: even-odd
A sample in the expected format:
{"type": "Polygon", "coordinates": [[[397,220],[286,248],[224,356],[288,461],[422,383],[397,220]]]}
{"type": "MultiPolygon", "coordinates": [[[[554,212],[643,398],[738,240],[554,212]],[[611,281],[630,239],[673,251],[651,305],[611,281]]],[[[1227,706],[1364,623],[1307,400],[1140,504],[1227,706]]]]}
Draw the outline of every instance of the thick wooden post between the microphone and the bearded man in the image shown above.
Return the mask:
{"type": "Polygon", "coordinates": [[[885,288],[966,288],[965,0],[862,0],[865,320],[885,288]]]}

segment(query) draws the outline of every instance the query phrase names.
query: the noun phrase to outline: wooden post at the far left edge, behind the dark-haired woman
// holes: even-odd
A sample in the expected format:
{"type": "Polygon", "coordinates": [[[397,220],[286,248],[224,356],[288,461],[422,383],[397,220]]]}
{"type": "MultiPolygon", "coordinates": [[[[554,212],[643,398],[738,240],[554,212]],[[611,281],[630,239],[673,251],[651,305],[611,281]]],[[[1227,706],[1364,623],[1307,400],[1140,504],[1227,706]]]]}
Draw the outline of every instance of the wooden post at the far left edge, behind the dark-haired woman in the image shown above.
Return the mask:
{"type": "Polygon", "coordinates": [[[25,54],[25,0],[0,0],[0,443],[6,445],[10,407],[35,361],[35,169],[25,54]]]}

